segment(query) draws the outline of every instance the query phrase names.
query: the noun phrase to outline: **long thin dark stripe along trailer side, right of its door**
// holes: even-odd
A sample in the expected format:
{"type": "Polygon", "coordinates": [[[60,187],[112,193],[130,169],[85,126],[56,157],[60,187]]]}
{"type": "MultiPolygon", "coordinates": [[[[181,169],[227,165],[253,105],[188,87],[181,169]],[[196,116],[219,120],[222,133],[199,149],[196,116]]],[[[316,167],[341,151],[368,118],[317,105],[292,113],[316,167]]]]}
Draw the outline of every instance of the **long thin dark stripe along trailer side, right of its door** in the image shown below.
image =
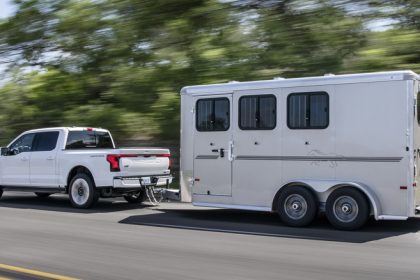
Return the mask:
{"type": "Polygon", "coordinates": [[[400,162],[402,157],[236,156],[237,160],[400,162]]]}

